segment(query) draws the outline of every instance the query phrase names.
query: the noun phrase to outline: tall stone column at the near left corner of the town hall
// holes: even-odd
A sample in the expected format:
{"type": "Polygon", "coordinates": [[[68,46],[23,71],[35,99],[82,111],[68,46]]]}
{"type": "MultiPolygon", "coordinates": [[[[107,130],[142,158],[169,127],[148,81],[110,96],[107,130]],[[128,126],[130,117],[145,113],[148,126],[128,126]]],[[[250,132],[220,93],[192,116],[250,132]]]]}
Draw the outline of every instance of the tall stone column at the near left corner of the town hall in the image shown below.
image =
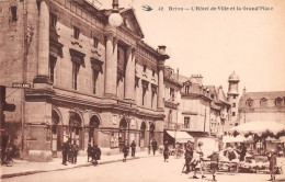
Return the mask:
{"type": "Polygon", "coordinates": [[[49,11],[46,1],[41,2],[38,27],[38,70],[37,76],[48,78],[49,62],[49,11]]]}

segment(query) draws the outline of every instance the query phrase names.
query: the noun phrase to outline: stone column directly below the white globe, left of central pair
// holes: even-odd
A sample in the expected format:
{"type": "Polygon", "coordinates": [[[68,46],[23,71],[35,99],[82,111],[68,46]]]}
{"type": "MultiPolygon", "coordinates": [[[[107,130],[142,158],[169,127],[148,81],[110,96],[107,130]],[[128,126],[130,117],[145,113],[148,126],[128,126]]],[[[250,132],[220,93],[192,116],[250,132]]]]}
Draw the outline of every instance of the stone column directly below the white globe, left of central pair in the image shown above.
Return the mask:
{"type": "Polygon", "coordinates": [[[105,94],[116,95],[117,82],[117,41],[113,36],[106,37],[106,69],[105,94]]]}

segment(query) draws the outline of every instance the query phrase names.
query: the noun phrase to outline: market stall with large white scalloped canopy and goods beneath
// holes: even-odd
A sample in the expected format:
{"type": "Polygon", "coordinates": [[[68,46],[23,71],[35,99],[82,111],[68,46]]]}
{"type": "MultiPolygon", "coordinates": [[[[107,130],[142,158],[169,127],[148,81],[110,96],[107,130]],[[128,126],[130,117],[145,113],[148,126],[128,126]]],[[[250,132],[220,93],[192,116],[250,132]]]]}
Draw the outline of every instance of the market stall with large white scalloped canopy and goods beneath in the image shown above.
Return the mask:
{"type": "MultiPolygon", "coordinates": [[[[249,136],[253,139],[253,150],[250,152],[252,157],[240,163],[240,168],[248,169],[249,172],[269,172],[269,161],[266,153],[270,150],[280,152],[283,150],[282,146],[270,145],[274,141],[282,141],[280,138],[285,136],[285,124],[281,122],[264,122],[255,121],[241,124],[239,126],[229,129],[229,133],[233,136],[241,135],[248,138],[249,136]],[[269,143],[269,138],[272,138],[269,143]]],[[[284,144],[283,144],[284,147],[284,144]]],[[[281,168],[281,167],[280,167],[281,168]]]]}

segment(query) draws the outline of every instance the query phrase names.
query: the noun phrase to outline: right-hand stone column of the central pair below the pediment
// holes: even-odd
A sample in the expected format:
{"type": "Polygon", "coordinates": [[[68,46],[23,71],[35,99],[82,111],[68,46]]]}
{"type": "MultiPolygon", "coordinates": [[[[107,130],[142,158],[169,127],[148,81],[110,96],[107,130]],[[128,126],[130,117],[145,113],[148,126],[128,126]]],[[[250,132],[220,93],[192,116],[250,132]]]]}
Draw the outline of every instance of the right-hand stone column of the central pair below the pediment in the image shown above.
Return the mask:
{"type": "Polygon", "coordinates": [[[134,100],[135,88],[135,50],[132,46],[127,48],[127,62],[125,71],[125,99],[134,100]]]}

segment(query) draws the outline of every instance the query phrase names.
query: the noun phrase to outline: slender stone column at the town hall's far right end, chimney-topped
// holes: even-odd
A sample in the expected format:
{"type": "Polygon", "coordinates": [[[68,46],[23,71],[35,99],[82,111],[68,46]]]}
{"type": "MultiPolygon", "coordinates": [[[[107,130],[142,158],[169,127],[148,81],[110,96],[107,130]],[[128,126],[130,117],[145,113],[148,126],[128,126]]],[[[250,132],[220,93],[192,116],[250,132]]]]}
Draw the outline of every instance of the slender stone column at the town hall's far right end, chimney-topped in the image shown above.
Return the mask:
{"type": "Polygon", "coordinates": [[[158,110],[163,110],[164,107],[164,81],[163,81],[163,70],[164,61],[169,59],[169,56],[166,54],[166,46],[158,46],[158,53],[160,54],[158,61],[158,110]]]}

